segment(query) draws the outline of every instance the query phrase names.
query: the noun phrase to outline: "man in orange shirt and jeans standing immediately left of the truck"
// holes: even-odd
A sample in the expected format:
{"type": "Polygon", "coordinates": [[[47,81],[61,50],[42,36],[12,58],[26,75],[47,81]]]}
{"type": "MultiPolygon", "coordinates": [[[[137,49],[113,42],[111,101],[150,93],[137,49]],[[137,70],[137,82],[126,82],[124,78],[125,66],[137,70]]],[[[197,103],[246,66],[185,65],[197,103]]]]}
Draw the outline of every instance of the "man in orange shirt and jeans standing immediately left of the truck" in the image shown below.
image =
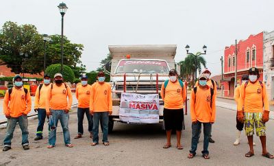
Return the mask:
{"type": "Polygon", "coordinates": [[[90,93],[90,114],[93,115],[93,139],[92,146],[99,144],[99,121],[103,126],[103,145],[110,145],[108,141],[108,121],[112,114],[112,91],[110,84],[105,82],[105,73],[99,71],[98,82],[91,86],[90,93]]]}

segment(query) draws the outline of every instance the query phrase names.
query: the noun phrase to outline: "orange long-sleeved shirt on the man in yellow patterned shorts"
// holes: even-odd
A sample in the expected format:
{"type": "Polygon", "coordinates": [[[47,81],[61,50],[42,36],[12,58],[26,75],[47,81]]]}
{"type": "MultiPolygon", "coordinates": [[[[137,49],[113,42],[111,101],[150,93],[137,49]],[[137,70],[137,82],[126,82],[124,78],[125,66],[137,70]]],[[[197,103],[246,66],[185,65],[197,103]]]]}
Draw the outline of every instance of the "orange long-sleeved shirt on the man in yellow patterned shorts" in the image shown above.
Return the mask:
{"type": "Polygon", "coordinates": [[[269,99],[266,94],[266,86],[262,82],[263,88],[259,81],[255,83],[248,82],[247,86],[240,86],[240,99],[238,111],[242,111],[244,106],[245,112],[263,112],[269,110],[269,99]]]}

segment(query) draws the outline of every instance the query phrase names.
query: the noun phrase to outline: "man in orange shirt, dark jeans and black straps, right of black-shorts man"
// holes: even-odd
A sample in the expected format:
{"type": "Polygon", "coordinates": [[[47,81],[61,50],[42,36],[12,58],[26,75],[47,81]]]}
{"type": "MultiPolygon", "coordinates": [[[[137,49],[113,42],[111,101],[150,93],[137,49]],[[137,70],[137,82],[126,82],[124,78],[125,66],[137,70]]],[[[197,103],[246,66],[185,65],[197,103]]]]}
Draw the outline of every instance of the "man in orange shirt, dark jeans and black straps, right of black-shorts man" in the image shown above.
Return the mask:
{"type": "Polygon", "coordinates": [[[208,144],[210,139],[210,128],[215,121],[216,106],[214,89],[207,85],[207,77],[201,74],[199,77],[199,85],[191,92],[190,114],[192,120],[192,140],[191,150],[188,158],[196,155],[197,144],[199,142],[199,131],[203,124],[203,158],[209,159],[208,144]]]}

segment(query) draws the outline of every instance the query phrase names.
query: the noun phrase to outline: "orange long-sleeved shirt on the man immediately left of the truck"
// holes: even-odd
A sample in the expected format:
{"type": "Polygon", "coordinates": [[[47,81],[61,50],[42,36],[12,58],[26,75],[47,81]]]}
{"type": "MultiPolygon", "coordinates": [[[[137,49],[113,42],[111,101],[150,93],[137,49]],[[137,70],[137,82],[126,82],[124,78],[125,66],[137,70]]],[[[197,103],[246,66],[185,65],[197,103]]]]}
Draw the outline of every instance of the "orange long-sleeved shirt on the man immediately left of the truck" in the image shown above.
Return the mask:
{"type": "Polygon", "coordinates": [[[110,84],[95,82],[91,86],[90,110],[93,112],[112,111],[112,91],[110,84]]]}

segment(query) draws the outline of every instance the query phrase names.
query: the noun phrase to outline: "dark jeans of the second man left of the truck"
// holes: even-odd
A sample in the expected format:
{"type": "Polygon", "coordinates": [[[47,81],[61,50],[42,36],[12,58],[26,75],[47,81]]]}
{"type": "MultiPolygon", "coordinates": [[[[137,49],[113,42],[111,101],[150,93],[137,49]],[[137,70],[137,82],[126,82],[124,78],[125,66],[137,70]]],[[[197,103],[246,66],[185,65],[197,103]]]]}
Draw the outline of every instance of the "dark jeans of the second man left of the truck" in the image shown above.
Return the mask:
{"type": "Polygon", "coordinates": [[[88,119],[88,131],[92,132],[93,120],[92,115],[90,115],[90,108],[78,108],[77,117],[78,117],[78,134],[84,134],[83,120],[86,113],[86,119],[88,119]]]}

